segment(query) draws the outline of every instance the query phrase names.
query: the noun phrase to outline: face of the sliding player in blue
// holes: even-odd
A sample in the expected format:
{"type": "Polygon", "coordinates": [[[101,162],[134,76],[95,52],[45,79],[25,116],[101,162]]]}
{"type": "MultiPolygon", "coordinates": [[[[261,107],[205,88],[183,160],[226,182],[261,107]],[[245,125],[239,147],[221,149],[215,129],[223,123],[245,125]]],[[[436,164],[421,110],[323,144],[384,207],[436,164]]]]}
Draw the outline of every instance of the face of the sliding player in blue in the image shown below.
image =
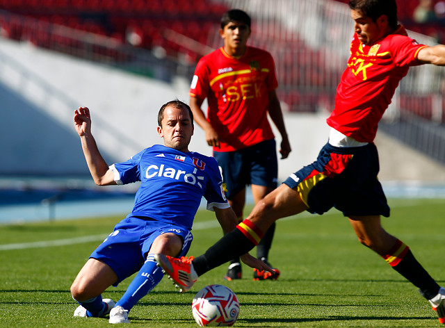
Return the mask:
{"type": "Polygon", "coordinates": [[[158,133],[164,138],[165,146],[188,151],[188,144],[193,136],[193,124],[187,108],[165,108],[158,133]]]}

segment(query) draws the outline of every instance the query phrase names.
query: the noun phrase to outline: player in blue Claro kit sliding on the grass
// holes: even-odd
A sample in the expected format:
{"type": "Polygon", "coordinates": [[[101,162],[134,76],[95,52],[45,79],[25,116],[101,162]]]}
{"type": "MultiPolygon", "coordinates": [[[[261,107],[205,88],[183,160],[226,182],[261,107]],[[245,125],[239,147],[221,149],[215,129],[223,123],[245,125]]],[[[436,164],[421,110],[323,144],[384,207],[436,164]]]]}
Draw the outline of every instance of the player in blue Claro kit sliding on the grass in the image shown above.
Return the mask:
{"type": "MultiPolygon", "coordinates": [[[[130,309],[163,277],[153,254],[184,256],[190,248],[193,219],[202,196],[214,211],[223,231],[238,223],[225,199],[215,158],[188,150],[193,135],[193,113],[179,100],[159,110],[157,131],[164,145],[154,145],[128,161],[108,167],[91,133],[90,110],[74,112],[74,127],[81,138],[88,169],[99,186],[140,181],[131,213],[95,249],[71,286],[79,307],[74,316],[103,317],[110,323],[126,323],[130,309]],[[102,299],[109,286],[138,272],[122,298],[102,299]]],[[[245,254],[243,261],[262,269],[264,263],[245,254]]]]}

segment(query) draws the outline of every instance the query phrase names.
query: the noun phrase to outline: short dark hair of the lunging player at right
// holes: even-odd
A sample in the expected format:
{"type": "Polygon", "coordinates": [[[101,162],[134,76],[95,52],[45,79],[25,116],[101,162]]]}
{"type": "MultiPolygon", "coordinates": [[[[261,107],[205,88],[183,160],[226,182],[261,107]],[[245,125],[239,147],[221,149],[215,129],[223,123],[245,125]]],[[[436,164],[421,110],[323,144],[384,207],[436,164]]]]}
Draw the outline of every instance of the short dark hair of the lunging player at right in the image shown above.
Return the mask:
{"type": "Polygon", "coordinates": [[[377,22],[378,17],[386,15],[388,24],[392,28],[397,27],[397,3],[396,0],[349,0],[349,8],[360,10],[364,15],[377,22]]]}

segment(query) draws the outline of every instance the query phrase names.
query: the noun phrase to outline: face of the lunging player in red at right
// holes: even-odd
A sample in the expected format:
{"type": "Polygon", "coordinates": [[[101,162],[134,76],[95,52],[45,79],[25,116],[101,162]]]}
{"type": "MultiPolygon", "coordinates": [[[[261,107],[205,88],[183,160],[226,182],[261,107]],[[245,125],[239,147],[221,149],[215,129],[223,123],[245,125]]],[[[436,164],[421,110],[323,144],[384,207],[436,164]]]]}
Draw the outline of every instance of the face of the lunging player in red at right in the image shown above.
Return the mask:
{"type": "Polygon", "coordinates": [[[355,22],[354,31],[362,44],[374,44],[387,33],[387,17],[385,15],[378,17],[377,22],[374,22],[360,10],[351,10],[351,17],[355,22]]]}

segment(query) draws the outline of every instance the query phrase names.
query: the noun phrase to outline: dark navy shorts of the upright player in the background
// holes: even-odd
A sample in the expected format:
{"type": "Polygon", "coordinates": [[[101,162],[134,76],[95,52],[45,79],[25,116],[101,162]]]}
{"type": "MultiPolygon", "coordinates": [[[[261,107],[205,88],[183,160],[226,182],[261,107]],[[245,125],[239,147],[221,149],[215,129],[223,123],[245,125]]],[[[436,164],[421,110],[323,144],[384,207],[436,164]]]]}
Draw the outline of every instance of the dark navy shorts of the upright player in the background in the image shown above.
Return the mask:
{"type": "Polygon", "coordinates": [[[250,184],[277,188],[278,162],[275,139],[235,151],[213,151],[223,174],[227,198],[250,184]]]}

